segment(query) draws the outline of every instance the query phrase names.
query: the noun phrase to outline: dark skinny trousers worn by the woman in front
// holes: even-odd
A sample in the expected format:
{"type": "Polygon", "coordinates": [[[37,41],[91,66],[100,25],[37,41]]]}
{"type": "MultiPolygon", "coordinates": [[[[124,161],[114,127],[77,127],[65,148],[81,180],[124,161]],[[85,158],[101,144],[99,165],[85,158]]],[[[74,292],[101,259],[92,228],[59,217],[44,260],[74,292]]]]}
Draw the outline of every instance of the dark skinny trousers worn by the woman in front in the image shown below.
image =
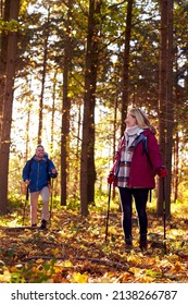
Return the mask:
{"type": "Polygon", "coordinates": [[[140,235],[148,232],[147,202],[149,188],[127,188],[118,187],[123,213],[123,231],[125,241],[131,240],[131,216],[133,216],[133,198],[135,199],[136,211],[138,217],[138,225],[140,235]]]}

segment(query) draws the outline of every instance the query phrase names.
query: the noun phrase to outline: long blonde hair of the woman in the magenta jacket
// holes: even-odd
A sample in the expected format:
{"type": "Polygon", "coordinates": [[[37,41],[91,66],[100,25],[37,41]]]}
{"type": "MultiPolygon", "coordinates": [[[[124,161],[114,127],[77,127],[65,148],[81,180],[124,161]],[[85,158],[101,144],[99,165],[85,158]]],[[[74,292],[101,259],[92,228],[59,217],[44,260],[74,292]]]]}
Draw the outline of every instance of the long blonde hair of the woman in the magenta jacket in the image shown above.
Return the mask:
{"type": "Polygon", "coordinates": [[[128,113],[136,119],[140,129],[150,129],[153,134],[156,133],[156,130],[151,125],[146,113],[140,108],[133,107],[128,109],[128,113]]]}

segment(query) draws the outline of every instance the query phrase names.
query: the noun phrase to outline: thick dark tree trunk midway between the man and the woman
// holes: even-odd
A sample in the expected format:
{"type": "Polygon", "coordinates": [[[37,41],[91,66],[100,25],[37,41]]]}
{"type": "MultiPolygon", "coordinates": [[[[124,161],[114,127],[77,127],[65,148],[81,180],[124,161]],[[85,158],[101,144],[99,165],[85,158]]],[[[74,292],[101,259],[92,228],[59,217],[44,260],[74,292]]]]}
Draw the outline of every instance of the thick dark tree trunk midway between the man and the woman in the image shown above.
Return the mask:
{"type": "Polygon", "coordinates": [[[88,36],[86,51],[83,143],[80,158],[80,212],[88,215],[88,204],[95,197],[95,106],[98,68],[98,14],[101,1],[89,1],[88,36]],[[95,16],[96,14],[96,16],[95,16]]]}

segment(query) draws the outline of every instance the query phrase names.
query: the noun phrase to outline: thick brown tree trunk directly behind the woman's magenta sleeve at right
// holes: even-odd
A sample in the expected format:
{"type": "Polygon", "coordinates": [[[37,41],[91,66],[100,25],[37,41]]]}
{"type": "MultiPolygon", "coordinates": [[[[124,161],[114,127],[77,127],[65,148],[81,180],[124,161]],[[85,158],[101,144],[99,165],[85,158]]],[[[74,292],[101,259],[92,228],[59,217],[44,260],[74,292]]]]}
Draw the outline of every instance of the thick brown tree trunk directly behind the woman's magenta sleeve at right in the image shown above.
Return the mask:
{"type": "Polygon", "coordinates": [[[160,74],[159,74],[159,129],[160,147],[164,163],[168,169],[166,183],[159,180],[158,215],[164,211],[165,199],[166,216],[170,216],[171,205],[171,167],[172,167],[172,136],[173,136],[173,1],[161,0],[161,45],[160,45],[160,74]],[[165,193],[163,186],[165,184],[165,193]],[[163,196],[165,195],[165,198],[163,196]]]}

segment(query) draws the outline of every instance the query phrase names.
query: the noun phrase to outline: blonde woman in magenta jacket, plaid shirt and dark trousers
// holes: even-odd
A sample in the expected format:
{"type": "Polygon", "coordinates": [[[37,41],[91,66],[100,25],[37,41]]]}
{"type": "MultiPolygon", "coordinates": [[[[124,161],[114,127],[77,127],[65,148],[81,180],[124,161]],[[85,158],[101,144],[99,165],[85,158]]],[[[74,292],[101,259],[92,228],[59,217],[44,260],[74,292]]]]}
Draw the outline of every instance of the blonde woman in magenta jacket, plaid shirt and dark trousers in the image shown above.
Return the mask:
{"type": "Polygon", "coordinates": [[[139,223],[139,246],[147,248],[147,200],[149,190],[154,188],[154,176],[165,178],[159,145],[154,136],[155,130],[150,124],[143,111],[131,108],[125,119],[126,130],[118,144],[115,162],[108,178],[108,182],[115,183],[120,190],[123,211],[123,231],[126,248],[131,248],[131,215],[133,198],[139,223]]]}

